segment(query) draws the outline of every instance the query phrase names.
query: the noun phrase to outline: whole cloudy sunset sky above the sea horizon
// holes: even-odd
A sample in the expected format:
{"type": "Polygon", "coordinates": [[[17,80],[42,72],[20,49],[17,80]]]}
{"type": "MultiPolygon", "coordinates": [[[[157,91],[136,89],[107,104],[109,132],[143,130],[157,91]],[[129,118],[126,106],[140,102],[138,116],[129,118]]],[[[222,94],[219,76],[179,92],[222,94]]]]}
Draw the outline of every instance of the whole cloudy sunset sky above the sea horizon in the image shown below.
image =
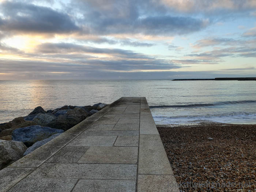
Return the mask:
{"type": "Polygon", "coordinates": [[[0,0],[0,79],[256,76],[256,0],[0,0]]]}

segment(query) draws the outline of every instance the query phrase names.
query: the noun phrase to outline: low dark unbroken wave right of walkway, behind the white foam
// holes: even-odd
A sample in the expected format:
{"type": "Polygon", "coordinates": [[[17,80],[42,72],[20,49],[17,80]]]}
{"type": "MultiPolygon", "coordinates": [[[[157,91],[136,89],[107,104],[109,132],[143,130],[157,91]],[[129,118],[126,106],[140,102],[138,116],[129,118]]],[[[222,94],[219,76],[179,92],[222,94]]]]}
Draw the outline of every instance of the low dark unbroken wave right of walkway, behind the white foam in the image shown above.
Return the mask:
{"type": "Polygon", "coordinates": [[[214,103],[193,103],[187,105],[151,105],[149,108],[193,108],[193,107],[208,107],[216,105],[233,105],[240,103],[256,103],[256,100],[243,100],[243,101],[221,101],[214,103]]]}

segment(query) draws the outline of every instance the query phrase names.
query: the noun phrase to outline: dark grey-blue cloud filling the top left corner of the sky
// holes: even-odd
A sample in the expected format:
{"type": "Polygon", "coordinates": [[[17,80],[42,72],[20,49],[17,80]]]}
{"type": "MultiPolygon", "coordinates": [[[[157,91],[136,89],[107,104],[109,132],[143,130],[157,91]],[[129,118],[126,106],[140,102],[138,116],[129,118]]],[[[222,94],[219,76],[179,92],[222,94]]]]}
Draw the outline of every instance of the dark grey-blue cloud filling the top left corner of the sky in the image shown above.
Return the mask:
{"type": "Polygon", "coordinates": [[[1,31],[16,33],[71,33],[80,30],[71,17],[49,7],[4,1],[1,31]]]}

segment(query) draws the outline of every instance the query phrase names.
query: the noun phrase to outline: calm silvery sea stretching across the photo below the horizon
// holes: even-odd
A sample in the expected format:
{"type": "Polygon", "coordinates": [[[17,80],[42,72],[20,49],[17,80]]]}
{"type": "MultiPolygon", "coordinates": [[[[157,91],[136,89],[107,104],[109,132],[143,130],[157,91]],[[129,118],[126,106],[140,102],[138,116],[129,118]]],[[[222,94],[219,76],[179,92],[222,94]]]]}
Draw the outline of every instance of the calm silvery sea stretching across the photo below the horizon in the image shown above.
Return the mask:
{"type": "Polygon", "coordinates": [[[0,123],[37,106],[48,110],[129,96],[146,97],[157,124],[256,124],[256,81],[171,80],[0,80],[0,123]]]}

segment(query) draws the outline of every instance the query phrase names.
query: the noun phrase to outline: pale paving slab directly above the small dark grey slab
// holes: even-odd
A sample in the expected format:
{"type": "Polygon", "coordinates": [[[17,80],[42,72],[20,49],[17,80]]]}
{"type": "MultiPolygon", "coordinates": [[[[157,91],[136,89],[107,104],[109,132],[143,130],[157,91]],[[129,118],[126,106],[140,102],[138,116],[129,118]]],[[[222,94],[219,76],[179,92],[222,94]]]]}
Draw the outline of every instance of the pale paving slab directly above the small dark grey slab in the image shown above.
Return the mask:
{"type": "Polygon", "coordinates": [[[113,146],[117,136],[106,135],[79,135],[68,146],[113,146]]]}

